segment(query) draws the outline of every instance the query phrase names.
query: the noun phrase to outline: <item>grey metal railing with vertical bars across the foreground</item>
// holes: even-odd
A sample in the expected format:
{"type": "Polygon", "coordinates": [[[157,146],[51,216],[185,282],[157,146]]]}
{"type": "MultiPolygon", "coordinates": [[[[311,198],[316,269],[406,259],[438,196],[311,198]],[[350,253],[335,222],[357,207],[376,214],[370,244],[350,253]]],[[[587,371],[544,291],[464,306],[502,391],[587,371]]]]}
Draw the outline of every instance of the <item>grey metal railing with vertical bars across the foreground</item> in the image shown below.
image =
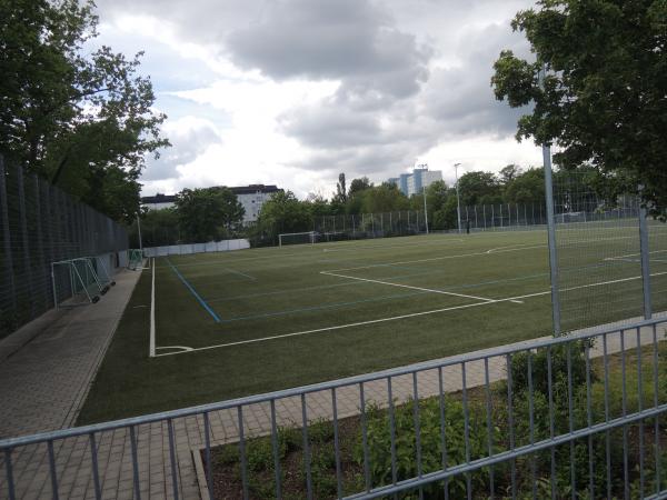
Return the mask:
{"type": "Polygon", "coordinates": [[[6,439],[0,494],[660,497],[666,327],[641,321],[6,439]]]}

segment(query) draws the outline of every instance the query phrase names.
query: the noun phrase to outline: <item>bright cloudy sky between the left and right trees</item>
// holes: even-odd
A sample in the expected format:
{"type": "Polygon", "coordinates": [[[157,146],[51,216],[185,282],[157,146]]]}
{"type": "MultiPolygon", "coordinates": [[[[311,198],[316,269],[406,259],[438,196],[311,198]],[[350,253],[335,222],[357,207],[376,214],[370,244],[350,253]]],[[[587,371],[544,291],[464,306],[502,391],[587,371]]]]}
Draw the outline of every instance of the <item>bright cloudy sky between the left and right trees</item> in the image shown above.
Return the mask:
{"type": "Polygon", "coordinates": [[[528,0],[98,0],[96,43],[131,56],[172,148],[142,194],[278,184],[330,197],[338,174],[379,183],[427,163],[541,164],[517,142],[526,110],[495,100],[504,49],[530,57],[510,20],[528,0]]]}

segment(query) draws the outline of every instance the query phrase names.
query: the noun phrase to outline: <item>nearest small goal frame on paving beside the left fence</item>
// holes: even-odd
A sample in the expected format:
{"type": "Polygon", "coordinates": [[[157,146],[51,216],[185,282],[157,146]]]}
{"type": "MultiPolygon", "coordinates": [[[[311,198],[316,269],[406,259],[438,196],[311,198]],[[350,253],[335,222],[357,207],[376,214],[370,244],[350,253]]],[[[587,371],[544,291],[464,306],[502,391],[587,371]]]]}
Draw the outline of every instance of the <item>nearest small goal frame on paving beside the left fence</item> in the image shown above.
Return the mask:
{"type": "Polygon", "coordinates": [[[53,303],[57,309],[94,303],[102,289],[88,259],[51,262],[53,303]]]}

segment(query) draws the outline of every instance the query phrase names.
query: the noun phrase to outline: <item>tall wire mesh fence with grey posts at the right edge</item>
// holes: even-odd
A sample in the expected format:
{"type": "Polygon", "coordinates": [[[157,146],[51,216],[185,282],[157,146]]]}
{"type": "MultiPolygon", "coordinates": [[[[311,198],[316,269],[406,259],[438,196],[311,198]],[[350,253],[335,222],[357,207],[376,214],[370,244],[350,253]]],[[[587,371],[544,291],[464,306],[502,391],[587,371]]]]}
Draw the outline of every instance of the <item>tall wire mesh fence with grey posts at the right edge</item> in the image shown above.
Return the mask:
{"type": "Polygon", "coordinates": [[[584,173],[554,184],[564,332],[667,311],[667,226],[637,193],[600,197],[584,173]]]}

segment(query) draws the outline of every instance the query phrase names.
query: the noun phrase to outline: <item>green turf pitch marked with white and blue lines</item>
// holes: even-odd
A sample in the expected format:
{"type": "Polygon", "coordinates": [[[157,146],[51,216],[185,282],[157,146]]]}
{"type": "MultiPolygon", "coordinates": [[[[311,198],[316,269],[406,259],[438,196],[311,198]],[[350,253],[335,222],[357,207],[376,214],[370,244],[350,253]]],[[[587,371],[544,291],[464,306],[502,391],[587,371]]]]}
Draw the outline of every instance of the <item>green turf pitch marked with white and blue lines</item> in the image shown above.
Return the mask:
{"type": "MultiPolygon", "coordinates": [[[[568,241],[576,256],[586,232],[568,241]]],[[[625,239],[613,241],[626,244],[625,239]]],[[[625,250],[610,248],[614,242],[603,244],[611,257],[625,250]]],[[[568,282],[636,273],[634,263],[579,253],[588,278],[573,272],[568,282]]],[[[252,249],[159,258],[155,266],[157,353],[178,350],[170,347],[195,350],[148,357],[151,273],[145,270],[79,423],[283,389],[550,333],[542,231],[252,249]],[[480,300],[514,297],[520,302],[480,300]],[[235,344],[226,346],[230,343],[235,344]],[[198,350],[210,347],[216,348],[198,350]]],[[[565,292],[567,306],[576,308],[588,297],[580,290],[565,292]]],[[[623,301],[619,296],[611,300],[623,301]]],[[[630,302],[636,309],[636,299],[630,302]]]]}

